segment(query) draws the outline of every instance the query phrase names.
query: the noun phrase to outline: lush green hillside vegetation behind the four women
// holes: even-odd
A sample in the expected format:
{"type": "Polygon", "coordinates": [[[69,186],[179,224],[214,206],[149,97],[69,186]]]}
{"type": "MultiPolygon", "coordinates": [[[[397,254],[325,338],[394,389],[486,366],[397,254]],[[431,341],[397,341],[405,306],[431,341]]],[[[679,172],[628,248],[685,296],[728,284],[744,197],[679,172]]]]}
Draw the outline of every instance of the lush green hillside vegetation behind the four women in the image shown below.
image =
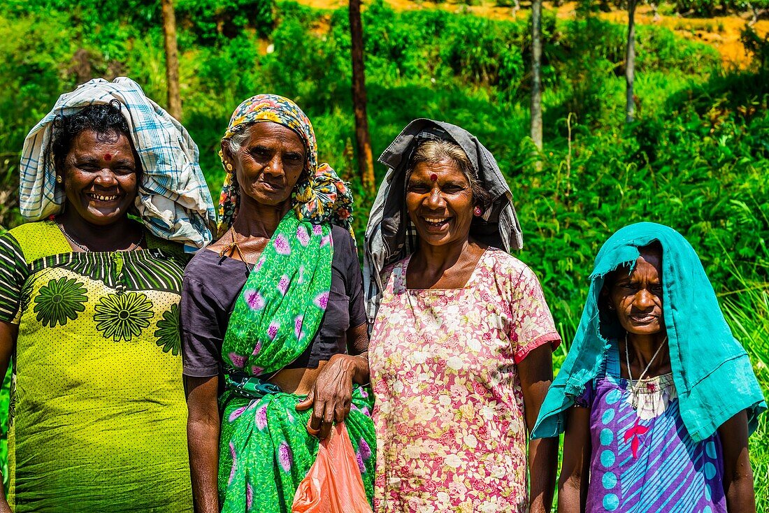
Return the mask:
{"type": "MultiPolygon", "coordinates": [[[[679,3],[697,11],[716,2],[679,3]]],[[[625,28],[585,11],[574,20],[545,13],[545,145],[537,152],[528,139],[526,22],[367,4],[374,152],[417,117],[477,135],[507,175],[524,228],[520,258],[541,278],[566,341],[581,314],[592,259],[608,235],[643,220],[677,228],[701,255],[769,391],[769,44],[746,30],[756,64],[736,72],[721,68],[707,45],[639,26],[638,120],[626,126],[625,28]]],[[[321,160],[353,180],[355,229],[362,237],[373,198],[354,178],[346,10],[179,0],[177,17],[182,121],[200,146],[214,197],[223,178],[216,150],[231,111],[250,95],[275,92],[305,109],[321,160]]],[[[59,94],[91,76],[128,75],[165,103],[159,20],[153,0],[8,0],[0,6],[0,224],[21,222],[12,206],[18,153],[59,94]]],[[[557,365],[567,347],[556,355],[557,365]]],[[[769,511],[767,438],[764,418],[751,438],[758,511],[769,511]]]]}

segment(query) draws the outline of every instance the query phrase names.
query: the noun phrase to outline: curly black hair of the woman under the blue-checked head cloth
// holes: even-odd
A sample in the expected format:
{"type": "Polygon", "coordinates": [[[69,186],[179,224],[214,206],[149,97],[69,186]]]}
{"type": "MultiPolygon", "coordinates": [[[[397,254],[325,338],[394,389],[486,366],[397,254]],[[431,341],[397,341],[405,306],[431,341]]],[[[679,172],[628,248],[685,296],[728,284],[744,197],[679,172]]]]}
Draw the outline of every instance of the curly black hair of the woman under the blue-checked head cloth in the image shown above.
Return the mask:
{"type": "MultiPolygon", "coordinates": [[[[62,172],[64,170],[64,161],[72,149],[72,141],[85,130],[92,130],[98,134],[117,132],[125,135],[131,142],[131,150],[135,152],[131,141],[131,131],[128,129],[128,122],[125,121],[121,109],[120,102],[112,100],[108,104],[88,105],[75,114],[57,116],[53,122],[53,139],[51,142],[56,171],[62,172]]],[[[138,172],[140,165],[138,160],[136,165],[138,172]]]]}

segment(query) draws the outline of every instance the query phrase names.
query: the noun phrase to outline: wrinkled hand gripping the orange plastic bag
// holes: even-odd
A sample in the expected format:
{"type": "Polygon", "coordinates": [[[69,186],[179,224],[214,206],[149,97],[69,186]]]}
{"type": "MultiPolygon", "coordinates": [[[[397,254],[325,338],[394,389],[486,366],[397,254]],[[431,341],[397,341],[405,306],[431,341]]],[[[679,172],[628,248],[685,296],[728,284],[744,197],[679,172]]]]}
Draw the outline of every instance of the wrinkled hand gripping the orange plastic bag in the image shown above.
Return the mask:
{"type": "Polygon", "coordinates": [[[347,418],[352,401],[352,381],[361,381],[361,376],[368,377],[368,358],[365,354],[331,356],[307,398],[296,405],[297,411],[312,407],[308,424],[311,434],[323,440],[335,422],[347,418]]]}

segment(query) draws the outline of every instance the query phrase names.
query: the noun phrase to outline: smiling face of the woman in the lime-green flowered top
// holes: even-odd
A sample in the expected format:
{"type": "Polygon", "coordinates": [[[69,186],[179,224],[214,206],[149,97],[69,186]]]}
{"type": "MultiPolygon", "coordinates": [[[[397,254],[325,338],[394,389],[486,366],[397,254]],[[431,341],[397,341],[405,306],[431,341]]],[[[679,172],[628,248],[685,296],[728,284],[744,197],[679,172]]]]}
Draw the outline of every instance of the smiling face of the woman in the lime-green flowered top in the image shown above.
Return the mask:
{"type": "Polygon", "coordinates": [[[63,169],[68,211],[93,225],[111,225],[128,214],[138,187],[131,142],[120,132],[84,130],[72,140],[63,169]]]}

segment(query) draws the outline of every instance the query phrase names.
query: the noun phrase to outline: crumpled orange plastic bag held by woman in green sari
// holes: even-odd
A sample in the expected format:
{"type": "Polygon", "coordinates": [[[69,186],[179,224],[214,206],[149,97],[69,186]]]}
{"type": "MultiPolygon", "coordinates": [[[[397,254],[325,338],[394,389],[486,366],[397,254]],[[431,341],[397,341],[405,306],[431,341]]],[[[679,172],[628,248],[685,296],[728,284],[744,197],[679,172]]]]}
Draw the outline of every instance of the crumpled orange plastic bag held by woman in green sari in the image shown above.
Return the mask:
{"type": "Polygon", "coordinates": [[[371,513],[344,422],[318,446],[318,458],[299,483],[291,512],[371,513]]]}

